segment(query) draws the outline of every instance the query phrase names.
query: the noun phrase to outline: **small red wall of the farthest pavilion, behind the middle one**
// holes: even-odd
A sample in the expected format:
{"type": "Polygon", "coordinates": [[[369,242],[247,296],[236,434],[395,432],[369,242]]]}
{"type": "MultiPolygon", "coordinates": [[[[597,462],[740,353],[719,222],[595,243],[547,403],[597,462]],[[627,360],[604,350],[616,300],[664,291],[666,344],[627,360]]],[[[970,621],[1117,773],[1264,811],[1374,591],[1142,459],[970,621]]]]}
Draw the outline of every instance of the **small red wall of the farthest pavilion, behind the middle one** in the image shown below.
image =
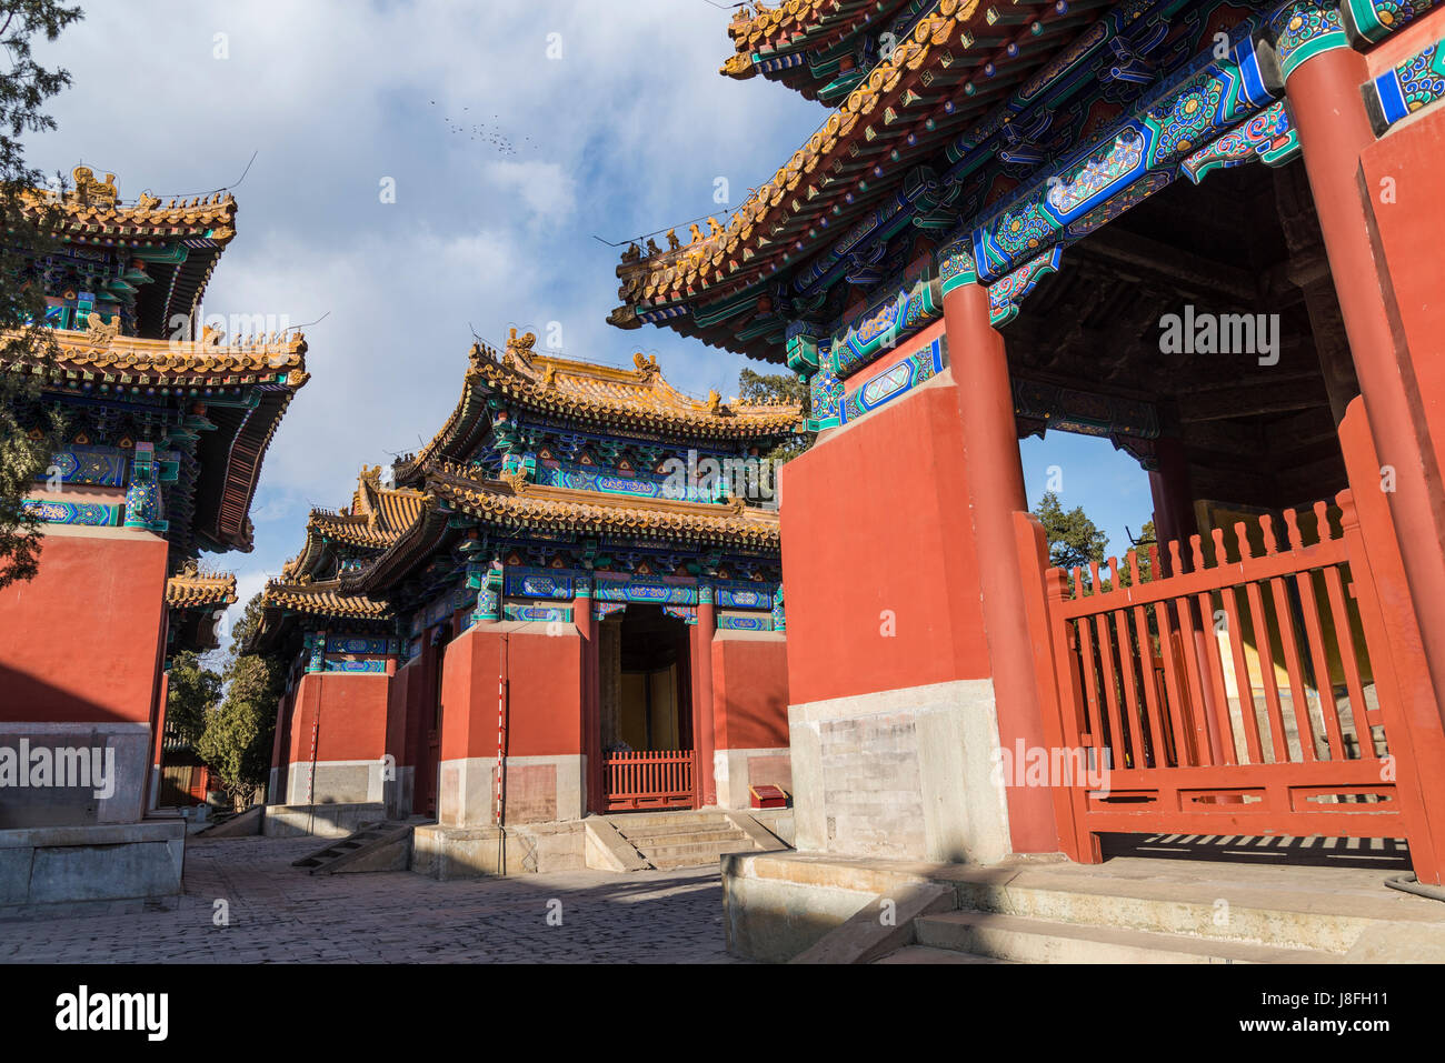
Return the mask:
{"type": "Polygon", "coordinates": [[[296,685],[290,761],[311,763],[311,729],[321,712],[316,760],[381,760],[390,676],[311,672],[296,685]]]}

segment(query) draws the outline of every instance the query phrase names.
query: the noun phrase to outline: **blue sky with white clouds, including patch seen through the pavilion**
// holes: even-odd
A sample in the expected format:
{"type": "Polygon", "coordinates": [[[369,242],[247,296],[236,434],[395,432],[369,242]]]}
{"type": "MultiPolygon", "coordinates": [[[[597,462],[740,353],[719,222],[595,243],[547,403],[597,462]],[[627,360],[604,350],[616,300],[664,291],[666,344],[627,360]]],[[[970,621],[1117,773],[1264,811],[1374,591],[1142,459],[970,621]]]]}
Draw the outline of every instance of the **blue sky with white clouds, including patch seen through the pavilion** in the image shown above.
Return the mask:
{"type": "MultiPolygon", "coordinates": [[[[457,402],[473,329],[561,335],[568,357],[656,354],[694,394],[737,390],[746,360],[605,324],[620,247],[730,205],[827,117],[795,92],[718,75],[727,10],[707,0],[91,0],[42,62],[72,87],[27,155],[116,173],[126,199],[233,185],[256,155],[210,313],[286,315],[311,383],[272,442],[256,550],[211,557],[241,601],[340,507],[363,465],[415,451],[457,402]],[[142,17],[143,12],[143,17],[142,17]],[[396,201],[381,202],[394,181],[396,201]],[[598,240],[600,238],[600,240],[598,240]]],[[[759,367],[764,368],[764,367],[759,367]]],[[[1023,448],[1121,549],[1149,514],[1137,465],[1095,439],[1023,448]]]]}

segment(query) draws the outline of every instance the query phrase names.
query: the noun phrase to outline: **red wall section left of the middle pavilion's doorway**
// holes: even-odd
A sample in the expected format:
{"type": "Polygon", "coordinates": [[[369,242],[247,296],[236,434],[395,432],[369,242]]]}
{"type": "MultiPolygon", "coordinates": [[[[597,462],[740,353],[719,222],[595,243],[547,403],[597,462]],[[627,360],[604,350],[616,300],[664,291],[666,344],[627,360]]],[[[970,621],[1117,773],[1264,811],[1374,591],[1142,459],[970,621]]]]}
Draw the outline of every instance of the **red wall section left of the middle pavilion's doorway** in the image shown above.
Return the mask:
{"type": "MultiPolygon", "coordinates": [[[[481,624],[447,647],[442,666],[442,760],[497,755],[499,628],[545,624],[481,624]]],[[[509,757],[568,755],[582,751],[582,640],[512,630],[507,635],[509,757]]]]}

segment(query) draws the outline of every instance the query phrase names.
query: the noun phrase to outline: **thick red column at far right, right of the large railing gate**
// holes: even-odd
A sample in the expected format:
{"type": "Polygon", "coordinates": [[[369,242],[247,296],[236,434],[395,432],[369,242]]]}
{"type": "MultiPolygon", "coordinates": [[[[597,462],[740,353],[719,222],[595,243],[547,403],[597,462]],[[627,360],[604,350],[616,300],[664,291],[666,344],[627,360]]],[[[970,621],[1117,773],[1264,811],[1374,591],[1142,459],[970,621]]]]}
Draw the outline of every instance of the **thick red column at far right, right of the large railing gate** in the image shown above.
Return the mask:
{"type": "MultiPolygon", "coordinates": [[[[1299,9],[1308,12],[1311,4],[1299,4],[1299,9]]],[[[1394,471],[1394,491],[1389,495],[1393,534],[1405,560],[1436,690],[1436,709],[1445,718],[1445,706],[1438,698],[1445,690],[1445,497],[1428,455],[1429,429],[1419,410],[1419,397],[1413,394],[1410,352],[1392,328],[1390,277],[1381,276],[1384,263],[1376,254],[1373,217],[1363,198],[1374,189],[1363,194],[1360,188],[1360,153],[1376,139],[1360,94],[1368,69],[1364,56],[1348,46],[1338,14],[1325,10],[1315,23],[1322,32],[1314,36],[1280,36],[1280,71],[1374,449],[1380,464],[1394,471]]],[[[1436,176],[1416,173],[1410,179],[1435,181],[1436,176]]],[[[1433,263],[1418,266],[1431,269],[1433,263]]],[[[1357,468],[1351,468],[1350,478],[1355,495],[1380,491],[1379,471],[1364,482],[1357,468]]],[[[1379,542],[1392,534],[1379,524],[1366,523],[1370,507],[1361,513],[1367,549],[1371,539],[1379,542]]]]}

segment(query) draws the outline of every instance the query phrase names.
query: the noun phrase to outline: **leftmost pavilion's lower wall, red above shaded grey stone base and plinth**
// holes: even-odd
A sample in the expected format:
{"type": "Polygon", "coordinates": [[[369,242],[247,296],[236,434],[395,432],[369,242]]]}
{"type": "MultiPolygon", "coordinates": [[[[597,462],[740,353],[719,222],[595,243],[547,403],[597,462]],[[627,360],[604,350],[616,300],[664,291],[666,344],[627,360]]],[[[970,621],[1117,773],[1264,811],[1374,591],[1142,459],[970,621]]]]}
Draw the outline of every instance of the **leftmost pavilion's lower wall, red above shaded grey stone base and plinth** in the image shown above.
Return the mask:
{"type": "Polygon", "coordinates": [[[181,890],[184,823],[142,822],[166,553],[131,529],[46,527],[36,578],[0,591],[0,911],[181,890]]]}

